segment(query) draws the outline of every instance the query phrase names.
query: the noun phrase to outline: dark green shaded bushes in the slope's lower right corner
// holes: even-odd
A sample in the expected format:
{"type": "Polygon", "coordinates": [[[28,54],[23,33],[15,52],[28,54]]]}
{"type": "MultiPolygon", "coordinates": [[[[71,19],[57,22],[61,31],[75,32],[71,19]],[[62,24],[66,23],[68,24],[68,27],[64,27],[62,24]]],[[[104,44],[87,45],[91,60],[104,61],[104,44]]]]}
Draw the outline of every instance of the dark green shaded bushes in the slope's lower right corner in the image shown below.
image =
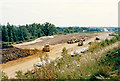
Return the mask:
{"type": "Polygon", "coordinates": [[[98,64],[105,66],[108,72],[104,75],[104,77],[110,79],[120,80],[119,76],[119,63],[120,63],[120,48],[114,48],[104,53],[106,56],[104,59],[101,59],[98,64]]]}

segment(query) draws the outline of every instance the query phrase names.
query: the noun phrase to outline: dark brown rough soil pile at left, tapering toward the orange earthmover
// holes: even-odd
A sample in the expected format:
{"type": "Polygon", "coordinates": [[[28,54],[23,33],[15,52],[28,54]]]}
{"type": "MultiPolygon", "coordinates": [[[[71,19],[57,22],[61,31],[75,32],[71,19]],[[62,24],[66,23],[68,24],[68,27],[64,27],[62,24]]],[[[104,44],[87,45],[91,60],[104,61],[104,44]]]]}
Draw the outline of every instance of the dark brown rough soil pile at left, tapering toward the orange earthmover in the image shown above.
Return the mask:
{"type": "Polygon", "coordinates": [[[2,58],[1,62],[6,63],[8,61],[16,60],[18,58],[26,57],[29,55],[37,54],[38,52],[42,52],[37,49],[20,49],[20,48],[5,48],[2,49],[2,55],[0,57],[2,58]]]}

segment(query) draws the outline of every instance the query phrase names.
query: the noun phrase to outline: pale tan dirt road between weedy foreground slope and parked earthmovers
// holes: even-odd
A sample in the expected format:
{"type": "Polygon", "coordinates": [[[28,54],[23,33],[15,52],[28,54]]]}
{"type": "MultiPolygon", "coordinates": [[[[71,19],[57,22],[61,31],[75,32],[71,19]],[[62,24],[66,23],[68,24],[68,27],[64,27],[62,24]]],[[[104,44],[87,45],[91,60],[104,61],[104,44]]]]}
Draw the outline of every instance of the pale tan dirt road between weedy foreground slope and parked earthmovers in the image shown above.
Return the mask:
{"type": "MultiPolygon", "coordinates": [[[[110,33],[100,33],[98,36],[101,40],[104,40],[106,38],[111,39],[112,36],[109,36],[110,33]]],[[[67,44],[67,43],[61,43],[61,44],[55,44],[51,45],[51,51],[48,53],[49,59],[54,60],[57,57],[61,56],[62,49],[66,47],[68,49],[68,52],[71,53],[73,51],[81,51],[82,49],[88,47],[88,42],[94,41],[95,36],[92,38],[87,39],[84,42],[83,46],[77,46],[77,43],[75,44],[67,44]]],[[[32,48],[32,47],[31,47],[32,48]]],[[[27,70],[33,69],[33,65],[40,62],[39,54],[32,55],[24,58],[19,58],[14,61],[9,61],[7,63],[1,64],[2,71],[5,72],[9,78],[15,78],[15,72],[16,71],[23,71],[26,72],[27,70]]]]}

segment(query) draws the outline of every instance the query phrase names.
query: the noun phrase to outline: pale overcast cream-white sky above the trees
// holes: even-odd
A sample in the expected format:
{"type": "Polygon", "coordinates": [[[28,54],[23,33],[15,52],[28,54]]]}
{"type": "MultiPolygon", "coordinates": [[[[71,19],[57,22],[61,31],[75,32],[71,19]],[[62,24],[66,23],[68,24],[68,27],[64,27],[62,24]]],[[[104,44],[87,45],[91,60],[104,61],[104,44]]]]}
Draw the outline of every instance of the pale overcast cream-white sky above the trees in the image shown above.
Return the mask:
{"type": "Polygon", "coordinates": [[[117,27],[119,0],[1,0],[0,24],[117,27]]]}

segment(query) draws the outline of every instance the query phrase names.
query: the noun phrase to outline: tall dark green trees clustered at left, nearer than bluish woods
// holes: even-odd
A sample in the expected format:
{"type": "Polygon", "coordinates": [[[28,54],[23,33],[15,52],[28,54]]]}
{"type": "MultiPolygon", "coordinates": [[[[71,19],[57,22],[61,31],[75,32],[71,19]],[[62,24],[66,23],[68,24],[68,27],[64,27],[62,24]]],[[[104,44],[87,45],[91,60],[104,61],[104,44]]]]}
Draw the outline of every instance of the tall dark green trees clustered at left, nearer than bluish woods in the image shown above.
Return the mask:
{"type": "Polygon", "coordinates": [[[30,39],[35,39],[41,36],[54,35],[57,33],[55,25],[51,23],[44,24],[26,24],[19,25],[18,27],[14,25],[2,25],[2,41],[4,42],[18,42],[26,41],[30,39]]]}

